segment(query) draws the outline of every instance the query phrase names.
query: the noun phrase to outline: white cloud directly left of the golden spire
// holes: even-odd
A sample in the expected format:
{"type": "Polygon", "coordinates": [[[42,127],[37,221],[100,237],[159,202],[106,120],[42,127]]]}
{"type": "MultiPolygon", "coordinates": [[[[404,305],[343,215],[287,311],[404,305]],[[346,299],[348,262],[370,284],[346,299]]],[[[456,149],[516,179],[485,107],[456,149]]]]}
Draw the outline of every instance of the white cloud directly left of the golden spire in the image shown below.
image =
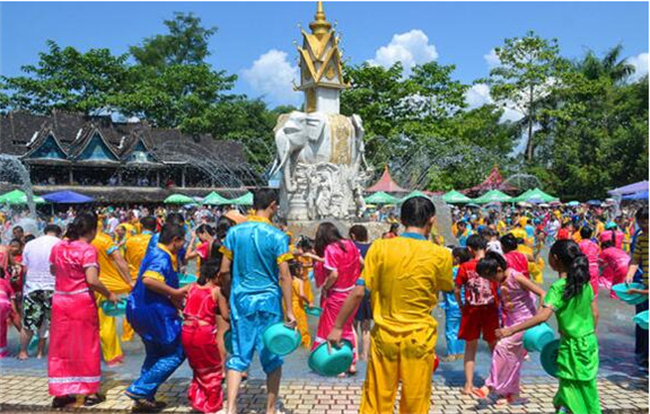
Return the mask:
{"type": "Polygon", "coordinates": [[[297,105],[302,95],[293,90],[293,81],[298,79],[298,67],[287,59],[286,52],[271,49],[261,55],[253,65],[242,71],[242,76],[251,88],[280,104],[297,105]]]}

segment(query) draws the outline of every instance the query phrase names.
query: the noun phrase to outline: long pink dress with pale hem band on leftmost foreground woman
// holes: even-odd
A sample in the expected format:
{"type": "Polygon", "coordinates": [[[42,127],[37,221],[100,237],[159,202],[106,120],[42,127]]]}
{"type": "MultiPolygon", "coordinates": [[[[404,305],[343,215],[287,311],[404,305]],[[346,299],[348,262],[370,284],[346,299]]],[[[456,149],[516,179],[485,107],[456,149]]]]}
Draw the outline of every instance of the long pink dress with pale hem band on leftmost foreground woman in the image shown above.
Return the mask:
{"type": "Polygon", "coordinates": [[[63,240],[50,262],[56,269],[52,297],[48,377],[50,395],[90,395],[101,380],[97,305],[85,269],[97,266],[97,250],[82,241],[63,240]]]}

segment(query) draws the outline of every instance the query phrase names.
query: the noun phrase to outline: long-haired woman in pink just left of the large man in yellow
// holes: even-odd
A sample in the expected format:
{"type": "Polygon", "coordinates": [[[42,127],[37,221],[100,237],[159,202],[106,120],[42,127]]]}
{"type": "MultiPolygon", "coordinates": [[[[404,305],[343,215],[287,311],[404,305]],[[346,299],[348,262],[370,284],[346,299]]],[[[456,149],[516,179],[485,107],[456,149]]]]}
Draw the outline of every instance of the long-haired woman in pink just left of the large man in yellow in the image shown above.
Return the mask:
{"type": "MultiPolygon", "coordinates": [[[[356,285],[361,274],[359,250],[351,240],[344,239],[341,236],[334,224],[325,222],[318,226],[315,247],[316,254],[324,259],[322,274],[325,278],[322,280],[321,290],[323,313],[318,321],[318,330],[316,331],[316,339],[312,344],[312,350],[326,341],[345,299],[356,285]]],[[[320,266],[318,267],[320,268],[320,266]]],[[[350,341],[356,351],[356,340],[352,330],[355,313],[356,311],[351,314],[352,316],[343,326],[343,339],[350,341]]],[[[356,373],[355,362],[356,358],[348,371],[350,374],[356,373]]]]}

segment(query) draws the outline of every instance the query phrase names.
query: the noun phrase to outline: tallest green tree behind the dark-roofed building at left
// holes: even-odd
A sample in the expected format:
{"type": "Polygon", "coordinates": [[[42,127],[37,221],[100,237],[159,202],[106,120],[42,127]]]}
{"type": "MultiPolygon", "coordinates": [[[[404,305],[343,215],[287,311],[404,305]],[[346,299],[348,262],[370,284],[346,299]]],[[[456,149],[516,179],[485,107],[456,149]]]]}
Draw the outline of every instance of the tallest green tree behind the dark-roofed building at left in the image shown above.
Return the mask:
{"type": "Polygon", "coordinates": [[[210,113],[226,101],[236,75],[214,70],[205,62],[217,28],[206,28],[193,14],[176,13],[165,20],[168,33],[145,39],[130,48],[137,64],[129,69],[129,87],[112,103],[161,128],[186,133],[215,129],[210,113]]]}

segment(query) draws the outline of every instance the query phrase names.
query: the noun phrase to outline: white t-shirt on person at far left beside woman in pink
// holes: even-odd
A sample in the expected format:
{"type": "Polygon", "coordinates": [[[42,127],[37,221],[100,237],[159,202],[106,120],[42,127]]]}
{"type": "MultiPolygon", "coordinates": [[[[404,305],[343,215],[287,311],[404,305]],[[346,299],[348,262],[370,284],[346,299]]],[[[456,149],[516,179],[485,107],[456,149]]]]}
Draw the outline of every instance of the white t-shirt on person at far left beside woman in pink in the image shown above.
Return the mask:
{"type": "Polygon", "coordinates": [[[27,268],[24,294],[35,290],[54,290],[54,276],[50,273],[50,253],[60,240],[44,235],[25,245],[23,265],[27,268]]]}

